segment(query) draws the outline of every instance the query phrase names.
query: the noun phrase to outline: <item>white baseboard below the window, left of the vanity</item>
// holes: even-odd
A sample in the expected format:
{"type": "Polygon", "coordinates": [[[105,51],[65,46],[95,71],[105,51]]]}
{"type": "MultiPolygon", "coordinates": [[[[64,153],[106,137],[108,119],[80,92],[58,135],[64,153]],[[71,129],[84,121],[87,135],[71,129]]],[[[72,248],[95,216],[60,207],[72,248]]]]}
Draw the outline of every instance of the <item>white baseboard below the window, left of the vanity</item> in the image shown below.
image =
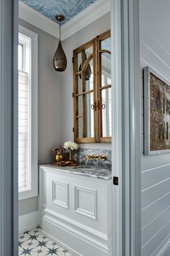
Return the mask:
{"type": "Polygon", "coordinates": [[[19,216],[19,234],[22,234],[30,229],[35,229],[39,226],[39,211],[24,214],[19,216]]]}

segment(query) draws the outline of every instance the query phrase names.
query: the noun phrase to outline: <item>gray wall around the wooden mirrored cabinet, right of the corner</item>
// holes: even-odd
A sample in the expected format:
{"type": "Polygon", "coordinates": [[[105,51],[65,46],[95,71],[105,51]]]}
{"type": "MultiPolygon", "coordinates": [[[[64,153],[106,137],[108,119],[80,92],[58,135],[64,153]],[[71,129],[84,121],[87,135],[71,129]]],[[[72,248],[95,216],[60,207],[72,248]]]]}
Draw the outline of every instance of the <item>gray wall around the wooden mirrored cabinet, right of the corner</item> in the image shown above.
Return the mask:
{"type": "MultiPolygon", "coordinates": [[[[95,38],[97,35],[104,33],[110,28],[110,16],[109,14],[104,15],[90,25],[84,27],[76,34],[67,38],[63,42],[63,48],[66,52],[68,67],[63,73],[63,119],[62,119],[62,129],[63,129],[63,142],[67,140],[73,140],[73,49],[81,46],[82,44],[88,42],[89,40],[95,38]]],[[[108,148],[111,149],[111,144],[86,144],[82,145],[82,148],[108,148]]]]}

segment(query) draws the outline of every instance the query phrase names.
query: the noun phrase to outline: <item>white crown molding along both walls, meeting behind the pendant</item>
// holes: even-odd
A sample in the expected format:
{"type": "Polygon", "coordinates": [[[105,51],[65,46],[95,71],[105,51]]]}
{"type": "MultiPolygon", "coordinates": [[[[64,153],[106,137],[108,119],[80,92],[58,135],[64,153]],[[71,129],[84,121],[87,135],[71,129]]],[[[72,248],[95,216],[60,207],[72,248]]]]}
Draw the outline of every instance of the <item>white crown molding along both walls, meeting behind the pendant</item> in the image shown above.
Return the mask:
{"type": "MultiPolygon", "coordinates": [[[[97,0],[62,26],[61,40],[69,38],[110,11],[110,0],[97,0]]],[[[19,1],[19,18],[59,38],[58,24],[19,1]]]]}

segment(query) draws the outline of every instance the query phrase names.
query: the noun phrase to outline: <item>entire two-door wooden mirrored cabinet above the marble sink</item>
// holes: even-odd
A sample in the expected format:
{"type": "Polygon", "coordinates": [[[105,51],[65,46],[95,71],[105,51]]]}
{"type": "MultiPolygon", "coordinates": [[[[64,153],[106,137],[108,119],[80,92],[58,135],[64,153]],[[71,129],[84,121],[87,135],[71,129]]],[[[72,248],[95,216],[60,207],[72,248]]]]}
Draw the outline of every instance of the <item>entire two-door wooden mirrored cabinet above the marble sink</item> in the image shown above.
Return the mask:
{"type": "Polygon", "coordinates": [[[110,31],[73,51],[74,140],[112,141],[110,31]]]}

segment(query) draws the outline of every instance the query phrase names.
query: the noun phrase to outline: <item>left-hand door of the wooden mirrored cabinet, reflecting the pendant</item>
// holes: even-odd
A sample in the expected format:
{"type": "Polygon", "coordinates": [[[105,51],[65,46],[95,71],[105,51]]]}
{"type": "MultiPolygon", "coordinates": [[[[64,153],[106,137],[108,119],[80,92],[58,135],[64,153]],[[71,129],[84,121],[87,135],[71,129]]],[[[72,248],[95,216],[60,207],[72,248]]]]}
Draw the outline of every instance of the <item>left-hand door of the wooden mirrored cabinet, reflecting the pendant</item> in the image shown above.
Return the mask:
{"type": "Polygon", "coordinates": [[[74,54],[74,138],[76,142],[95,142],[94,126],[94,40],[74,54]]]}

